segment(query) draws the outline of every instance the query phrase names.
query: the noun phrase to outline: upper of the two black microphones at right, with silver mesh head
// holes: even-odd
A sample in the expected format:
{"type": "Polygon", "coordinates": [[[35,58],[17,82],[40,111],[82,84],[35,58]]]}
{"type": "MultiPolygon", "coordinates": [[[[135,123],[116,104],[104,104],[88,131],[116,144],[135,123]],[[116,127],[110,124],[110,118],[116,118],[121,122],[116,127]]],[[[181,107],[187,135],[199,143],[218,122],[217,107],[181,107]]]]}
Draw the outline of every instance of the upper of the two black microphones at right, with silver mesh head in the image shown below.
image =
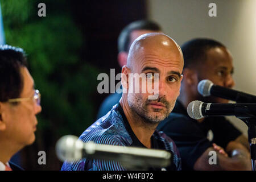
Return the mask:
{"type": "Polygon", "coordinates": [[[241,103],[256,103],[256,96],[214,85],[210,80],[201,80],[197,85],[198,92],[204,96],[216,96],[241,103]]]}

